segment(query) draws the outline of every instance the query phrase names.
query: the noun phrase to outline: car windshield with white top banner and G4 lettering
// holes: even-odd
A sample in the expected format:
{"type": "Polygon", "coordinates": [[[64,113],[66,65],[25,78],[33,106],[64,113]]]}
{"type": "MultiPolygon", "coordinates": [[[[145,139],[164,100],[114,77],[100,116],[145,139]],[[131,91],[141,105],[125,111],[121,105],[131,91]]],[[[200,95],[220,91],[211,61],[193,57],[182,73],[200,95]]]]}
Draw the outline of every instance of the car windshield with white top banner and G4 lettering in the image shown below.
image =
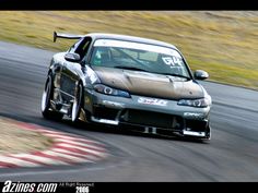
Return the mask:
{"type": "Polygon", "coordinates": [[[91,65],[144,71],[190,79],[180,53],[173,48],[141,43],[97,39],[91,65]]]}

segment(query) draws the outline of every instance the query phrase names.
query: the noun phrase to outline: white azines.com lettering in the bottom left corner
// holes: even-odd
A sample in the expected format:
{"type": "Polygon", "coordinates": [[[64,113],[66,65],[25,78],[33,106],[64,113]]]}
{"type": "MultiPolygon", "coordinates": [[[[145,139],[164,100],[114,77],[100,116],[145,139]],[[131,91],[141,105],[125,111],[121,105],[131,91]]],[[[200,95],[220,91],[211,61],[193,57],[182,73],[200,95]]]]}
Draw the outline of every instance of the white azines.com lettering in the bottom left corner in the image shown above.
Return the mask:
{"type": "Polygon", "coordinates": [[[7,180],[2,188],[5,192],[56,192],[57,183],[22,183],[7,180]]]}

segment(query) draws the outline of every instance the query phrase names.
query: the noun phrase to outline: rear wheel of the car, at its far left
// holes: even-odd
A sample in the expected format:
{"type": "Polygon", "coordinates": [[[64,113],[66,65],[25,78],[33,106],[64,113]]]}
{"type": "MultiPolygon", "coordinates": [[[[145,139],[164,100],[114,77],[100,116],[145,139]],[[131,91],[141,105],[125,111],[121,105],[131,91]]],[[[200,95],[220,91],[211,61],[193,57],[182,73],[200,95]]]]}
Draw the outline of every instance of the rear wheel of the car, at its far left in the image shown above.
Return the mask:
{"type": "Polygon", "coordinates": [[[45,119],[50,120],[61,120],[63,114],[60,112],[56,112],[50,107],[50,100],[52,97],[52,77],[49,74],[45,84],[45,89],[42,96],[42,114],[45,119]]]}

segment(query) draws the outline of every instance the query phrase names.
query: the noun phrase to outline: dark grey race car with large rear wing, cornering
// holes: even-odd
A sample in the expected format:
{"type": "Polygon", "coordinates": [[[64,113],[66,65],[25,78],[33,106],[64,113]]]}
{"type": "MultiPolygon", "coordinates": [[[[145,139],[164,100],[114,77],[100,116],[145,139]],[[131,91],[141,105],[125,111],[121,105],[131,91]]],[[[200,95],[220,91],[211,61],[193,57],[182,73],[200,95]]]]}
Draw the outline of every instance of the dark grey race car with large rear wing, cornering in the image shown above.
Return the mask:
{"type": "Polygon", "coordinates": [[[46,119],[210,140],[211,96],[172,44],[129,35],[61,34],[77,39],[54,55],[42,97],[46,119]]]}

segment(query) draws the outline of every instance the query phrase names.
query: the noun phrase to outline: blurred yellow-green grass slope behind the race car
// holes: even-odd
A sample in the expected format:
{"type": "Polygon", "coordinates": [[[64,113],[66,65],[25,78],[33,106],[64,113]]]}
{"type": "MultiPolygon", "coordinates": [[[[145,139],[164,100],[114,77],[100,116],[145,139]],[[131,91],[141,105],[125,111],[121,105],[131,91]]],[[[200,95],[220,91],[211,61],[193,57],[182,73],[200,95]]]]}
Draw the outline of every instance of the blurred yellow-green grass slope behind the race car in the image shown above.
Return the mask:
{"type": "Polygon", "coordinates": [[[0,11],[0,40],[59,51],[52,32],[118,33],[177,46],[210,80],[258,91],[258,12],[251,11],[0,11]]]}

